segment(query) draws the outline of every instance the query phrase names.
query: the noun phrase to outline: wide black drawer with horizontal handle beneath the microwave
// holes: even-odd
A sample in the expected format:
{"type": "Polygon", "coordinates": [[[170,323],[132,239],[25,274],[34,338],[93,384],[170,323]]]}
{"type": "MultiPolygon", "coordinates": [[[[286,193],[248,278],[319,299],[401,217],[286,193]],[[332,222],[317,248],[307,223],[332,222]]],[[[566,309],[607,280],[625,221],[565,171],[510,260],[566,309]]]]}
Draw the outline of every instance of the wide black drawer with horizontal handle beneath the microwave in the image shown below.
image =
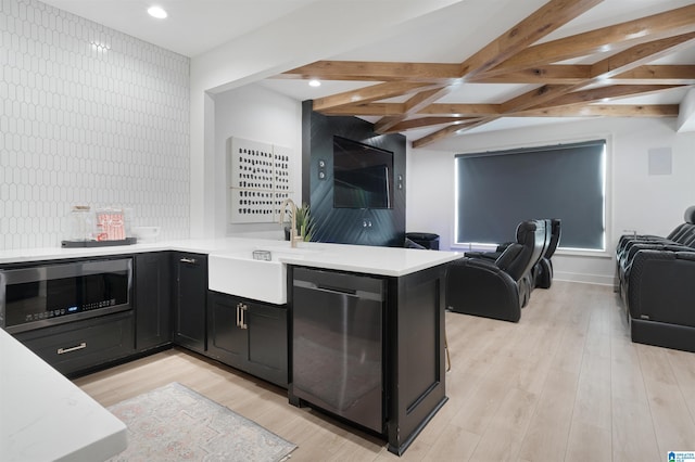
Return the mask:
{"type": "Polygon", "coordinates": [[[94,368],[134,352],[132,312],[63,324],[16,336],[63,374],[94,368]]]}

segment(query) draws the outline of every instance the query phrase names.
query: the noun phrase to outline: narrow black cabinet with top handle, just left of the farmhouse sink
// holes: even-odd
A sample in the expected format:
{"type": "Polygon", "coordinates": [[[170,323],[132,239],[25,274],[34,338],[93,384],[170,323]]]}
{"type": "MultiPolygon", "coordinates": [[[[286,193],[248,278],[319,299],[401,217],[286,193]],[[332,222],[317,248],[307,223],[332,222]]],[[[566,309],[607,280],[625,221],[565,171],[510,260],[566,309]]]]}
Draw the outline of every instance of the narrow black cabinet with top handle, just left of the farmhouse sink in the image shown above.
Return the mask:
{"type": "Polygon", "coordinates": [[[176,268],[174,342],[186,348],[204,352],[207,256],[176,253],[174,265],[176,268]]]}

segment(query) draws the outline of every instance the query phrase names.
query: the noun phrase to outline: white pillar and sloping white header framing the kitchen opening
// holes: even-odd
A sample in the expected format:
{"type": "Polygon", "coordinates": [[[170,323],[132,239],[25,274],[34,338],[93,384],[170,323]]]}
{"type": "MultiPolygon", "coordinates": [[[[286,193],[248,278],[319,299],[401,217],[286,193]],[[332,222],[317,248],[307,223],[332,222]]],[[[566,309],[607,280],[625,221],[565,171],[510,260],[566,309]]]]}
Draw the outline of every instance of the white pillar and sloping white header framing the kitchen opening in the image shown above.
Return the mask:
{"type": "Polygon", "coordinates": [[[219,228],[215,214],[206,205],[214,200],[208,179],[215,177],[214,137],[206,132],[212,124],[207,120],[211,94],[368,46],[399,29],[410,30],[420,16],[460,1],[402,0],[396,9],[392,1],[372,1],[368,15],[350,2],[314,2],[194,56],[190,74],[191,236],[214,236],[219,228]],[[334,21],[336,17],[341,21],[334,21]]]}

